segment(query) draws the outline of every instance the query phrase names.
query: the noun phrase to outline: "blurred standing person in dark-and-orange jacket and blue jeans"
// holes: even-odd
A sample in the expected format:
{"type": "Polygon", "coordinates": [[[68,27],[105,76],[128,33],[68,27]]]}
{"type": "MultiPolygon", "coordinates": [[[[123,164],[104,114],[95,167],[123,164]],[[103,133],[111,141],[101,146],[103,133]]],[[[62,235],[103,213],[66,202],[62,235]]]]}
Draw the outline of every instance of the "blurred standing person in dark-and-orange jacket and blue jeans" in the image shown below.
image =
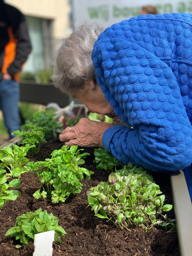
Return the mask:
{"type": "Polygon", "coordinates": [[[20,129],[18,72],[31,52],[24,15],[0,0],[0,109],[11,133],[20,129]]]}

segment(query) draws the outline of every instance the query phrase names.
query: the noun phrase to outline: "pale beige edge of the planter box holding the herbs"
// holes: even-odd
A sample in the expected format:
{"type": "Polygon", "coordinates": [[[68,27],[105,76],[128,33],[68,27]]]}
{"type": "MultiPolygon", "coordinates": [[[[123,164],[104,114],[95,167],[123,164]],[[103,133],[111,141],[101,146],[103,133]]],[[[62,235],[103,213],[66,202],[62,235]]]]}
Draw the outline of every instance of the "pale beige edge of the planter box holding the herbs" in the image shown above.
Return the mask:
{"type": "MultiPolygon", "coordinates": [[[[21,143],[18,137],[2,144],[0,147],[12,147],[21,143]]],[[[183,171],[171,175],[171,187],[174,211],[177,223],[178,240],[181,256],[192,255],[192,204],[183,171]]]]}

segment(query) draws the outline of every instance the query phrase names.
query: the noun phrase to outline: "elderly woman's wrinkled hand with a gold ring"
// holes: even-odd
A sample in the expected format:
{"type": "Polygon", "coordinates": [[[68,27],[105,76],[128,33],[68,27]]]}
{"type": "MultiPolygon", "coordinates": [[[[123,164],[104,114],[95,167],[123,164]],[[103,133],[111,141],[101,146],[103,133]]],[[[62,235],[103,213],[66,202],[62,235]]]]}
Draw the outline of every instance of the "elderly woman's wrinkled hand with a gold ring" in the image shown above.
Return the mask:
{"type": "Polygon", "coordinates": [[[98,147],[102,146],[102,137],[106,129],[112,127],[111,124],[105,122],[95,122],[88,118],[81,118],[75,126],[67,127],[62,134],[59,135],[60,141],[66,141],[68,146],[86,146],[98,147]]]}

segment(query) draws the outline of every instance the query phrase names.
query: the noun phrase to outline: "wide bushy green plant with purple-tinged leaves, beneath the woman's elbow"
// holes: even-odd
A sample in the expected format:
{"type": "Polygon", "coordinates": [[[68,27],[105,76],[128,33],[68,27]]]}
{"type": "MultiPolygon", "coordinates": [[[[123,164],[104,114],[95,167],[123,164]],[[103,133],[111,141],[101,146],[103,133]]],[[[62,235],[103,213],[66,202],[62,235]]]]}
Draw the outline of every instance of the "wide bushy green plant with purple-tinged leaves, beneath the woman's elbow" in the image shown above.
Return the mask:
{"type": "Polygon", "coordinates": [[[174,228],[175,220],[161,214],[171,210],[172,205],[163,205],[165,196],[160,194],[159,186],[142,174],[121,177],[111,173],[107,182],[100,182],[87,191],[95,216],[112,221],[121,230],[130,230],[132,226],[147,230],[154,225],[174,228]]]}

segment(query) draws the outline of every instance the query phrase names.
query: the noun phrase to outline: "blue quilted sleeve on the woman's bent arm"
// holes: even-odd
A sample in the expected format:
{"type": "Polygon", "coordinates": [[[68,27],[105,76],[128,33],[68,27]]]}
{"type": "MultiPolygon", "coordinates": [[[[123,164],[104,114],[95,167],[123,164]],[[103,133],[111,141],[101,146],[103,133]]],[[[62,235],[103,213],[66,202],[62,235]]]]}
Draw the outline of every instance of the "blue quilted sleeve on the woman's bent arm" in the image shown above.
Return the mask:
{"type": "Polygon", "coordinates": [[[173,172],[192,162],[192,126],[172,70],[134,42],[103,38],[92,52],[98,84],[116,114],[133,129],[117,125],[103,147],[124,164],[173,172]]]}

